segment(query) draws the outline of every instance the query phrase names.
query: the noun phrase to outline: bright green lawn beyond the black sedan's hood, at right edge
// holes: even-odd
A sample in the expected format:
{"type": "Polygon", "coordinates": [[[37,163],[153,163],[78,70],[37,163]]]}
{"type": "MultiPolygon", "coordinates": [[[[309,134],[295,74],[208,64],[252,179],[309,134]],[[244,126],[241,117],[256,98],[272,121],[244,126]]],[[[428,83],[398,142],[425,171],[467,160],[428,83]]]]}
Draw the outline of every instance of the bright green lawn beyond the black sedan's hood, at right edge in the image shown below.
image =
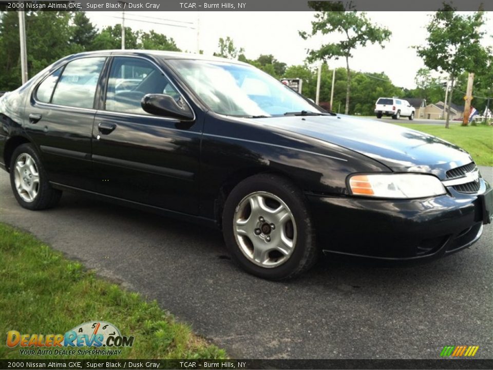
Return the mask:
{"type": "Polygon", "coordinates": [[[451,123],[450,128],[445,128],[445,123],[443,125],[395,124],[456,144],[469,152],[476,164],[493,166],[493,126],[461,126],[458,123],[451,123]]]}

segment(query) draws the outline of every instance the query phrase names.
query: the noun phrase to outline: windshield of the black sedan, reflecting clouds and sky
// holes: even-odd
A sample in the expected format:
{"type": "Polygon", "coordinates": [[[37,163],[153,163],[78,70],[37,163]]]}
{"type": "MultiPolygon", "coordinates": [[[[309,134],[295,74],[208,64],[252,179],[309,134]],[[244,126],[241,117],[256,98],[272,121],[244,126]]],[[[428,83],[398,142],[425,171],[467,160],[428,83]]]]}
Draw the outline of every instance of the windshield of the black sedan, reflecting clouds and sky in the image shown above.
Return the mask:
{"type": "Polygon", "coordinates": [[[201,60],[168,62],[208,108],[219,114],[269,117],[292,112],[322,113],[288,86],[254,67],[201,60]]]}

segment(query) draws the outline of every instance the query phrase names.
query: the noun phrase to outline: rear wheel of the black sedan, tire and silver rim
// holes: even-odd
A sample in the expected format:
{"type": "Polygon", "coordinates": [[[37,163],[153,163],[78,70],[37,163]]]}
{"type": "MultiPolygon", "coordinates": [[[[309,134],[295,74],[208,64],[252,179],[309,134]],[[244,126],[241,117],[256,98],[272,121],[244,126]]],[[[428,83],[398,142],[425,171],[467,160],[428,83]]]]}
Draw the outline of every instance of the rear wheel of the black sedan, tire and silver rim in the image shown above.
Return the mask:
{"type": "Polygon", "coordinates": [[[24,208],[43,210],[54,207],[62,191],[53,189],[31,144],[16,147],[10,160],[10,185],[15,199],[24,208]]]}

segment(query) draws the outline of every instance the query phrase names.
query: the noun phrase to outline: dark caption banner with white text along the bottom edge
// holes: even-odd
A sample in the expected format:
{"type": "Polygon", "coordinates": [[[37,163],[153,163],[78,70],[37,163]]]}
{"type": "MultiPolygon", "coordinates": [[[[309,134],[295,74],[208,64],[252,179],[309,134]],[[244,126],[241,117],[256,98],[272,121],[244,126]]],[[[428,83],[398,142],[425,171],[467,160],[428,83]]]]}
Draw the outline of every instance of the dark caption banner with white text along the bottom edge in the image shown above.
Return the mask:
{"type": "Polygon", "coordinates": [[[2,369],[492,369],[493,359],[437,360],[0,360],[2,369]]]}

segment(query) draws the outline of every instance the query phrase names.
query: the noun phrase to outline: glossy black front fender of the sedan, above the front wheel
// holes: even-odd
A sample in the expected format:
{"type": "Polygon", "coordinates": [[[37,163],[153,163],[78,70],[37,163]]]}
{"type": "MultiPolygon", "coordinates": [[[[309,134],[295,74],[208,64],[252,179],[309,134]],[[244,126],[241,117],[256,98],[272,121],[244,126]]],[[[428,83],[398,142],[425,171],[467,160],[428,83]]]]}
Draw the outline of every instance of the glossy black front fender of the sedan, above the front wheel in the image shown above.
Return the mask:
{"type": "Polygon", "coordinates": [[[206,116],[200,170],[203,216],[213,216],[222,184],[242,179],[238,174],[267,171],[287,176],[306,193],[336,196],[348,195],[346,178],[351,173],[391,172],[371,158],[318,139],[255,122],[206,116]]]}

